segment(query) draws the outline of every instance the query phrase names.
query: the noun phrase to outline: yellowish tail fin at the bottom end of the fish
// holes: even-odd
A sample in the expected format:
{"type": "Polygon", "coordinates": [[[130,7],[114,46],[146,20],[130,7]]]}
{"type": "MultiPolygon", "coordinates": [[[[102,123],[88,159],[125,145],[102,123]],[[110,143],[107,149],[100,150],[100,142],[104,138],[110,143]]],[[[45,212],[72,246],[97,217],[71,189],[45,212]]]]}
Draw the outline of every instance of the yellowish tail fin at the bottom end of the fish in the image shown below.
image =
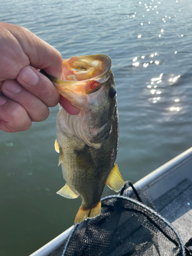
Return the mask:
{"type": "Polygon", "coordinates": [[[91,209],[86,207],[80,206],[77,215],[75,217],[75,224],[80,223],[87,218],[95,218],[97,215],[101,213],[101,200],[95,204],[91,209]]]}

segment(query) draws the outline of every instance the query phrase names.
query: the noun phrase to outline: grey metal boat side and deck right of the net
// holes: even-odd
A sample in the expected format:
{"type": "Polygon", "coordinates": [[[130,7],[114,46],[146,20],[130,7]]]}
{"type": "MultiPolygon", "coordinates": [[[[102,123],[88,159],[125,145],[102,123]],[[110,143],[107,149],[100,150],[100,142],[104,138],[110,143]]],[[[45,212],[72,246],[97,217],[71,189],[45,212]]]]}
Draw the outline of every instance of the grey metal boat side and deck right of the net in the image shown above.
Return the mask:
{"type": "Polygon", "coordinates": [[[192,237],[192,148],[136,184],[151,197],[185,244],[192,237]]]}

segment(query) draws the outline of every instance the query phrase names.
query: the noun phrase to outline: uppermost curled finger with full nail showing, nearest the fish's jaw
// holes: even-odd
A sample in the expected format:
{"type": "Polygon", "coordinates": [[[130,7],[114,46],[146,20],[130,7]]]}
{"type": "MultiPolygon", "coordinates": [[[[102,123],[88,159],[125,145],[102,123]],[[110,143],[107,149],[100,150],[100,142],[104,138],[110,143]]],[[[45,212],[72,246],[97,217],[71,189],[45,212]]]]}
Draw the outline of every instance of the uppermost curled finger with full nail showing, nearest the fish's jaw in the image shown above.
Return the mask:
{"type": "Polygon", "coordinates": [[[17,81],[47,106],[56,106],[58,104],[60,95],[53,83],[35,68],[27,66],[20,70],[17,81]]]}

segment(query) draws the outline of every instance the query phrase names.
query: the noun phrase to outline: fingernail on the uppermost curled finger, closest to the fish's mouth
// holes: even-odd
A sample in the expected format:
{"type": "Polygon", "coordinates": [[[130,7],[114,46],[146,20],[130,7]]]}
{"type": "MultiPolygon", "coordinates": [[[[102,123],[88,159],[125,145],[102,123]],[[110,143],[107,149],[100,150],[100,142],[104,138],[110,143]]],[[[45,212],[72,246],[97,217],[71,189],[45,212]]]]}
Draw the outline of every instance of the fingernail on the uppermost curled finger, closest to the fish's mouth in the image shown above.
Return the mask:
{"type": "Polygon", "coordinates": [[[25,67],[19,72],[19,78],[30,86],[35,86],[35,84],[38,82],[38,76],[29,67],[25,67]]]}

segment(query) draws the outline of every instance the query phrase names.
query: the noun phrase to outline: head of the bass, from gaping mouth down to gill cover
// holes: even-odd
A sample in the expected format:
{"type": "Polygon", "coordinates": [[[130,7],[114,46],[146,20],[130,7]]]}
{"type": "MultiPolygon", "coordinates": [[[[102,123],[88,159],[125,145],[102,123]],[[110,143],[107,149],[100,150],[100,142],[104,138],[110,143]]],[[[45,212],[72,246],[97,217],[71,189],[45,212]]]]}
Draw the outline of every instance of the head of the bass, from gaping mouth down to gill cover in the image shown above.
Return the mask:
{"type": "Polygon", "coordinates": [[[49,77],[59,94],[81,110],[78,117],[67,118],[69,114],[65,113],[60,119],[65,116],[64,119],[70,120],[70,132],[93,147],[100,146],[101,139],[110,133],[113,120],[117,118],[111,66],[111,58],[104,54],[75,56],[63,60],[62,77],[65,80],[49,77]]]}

